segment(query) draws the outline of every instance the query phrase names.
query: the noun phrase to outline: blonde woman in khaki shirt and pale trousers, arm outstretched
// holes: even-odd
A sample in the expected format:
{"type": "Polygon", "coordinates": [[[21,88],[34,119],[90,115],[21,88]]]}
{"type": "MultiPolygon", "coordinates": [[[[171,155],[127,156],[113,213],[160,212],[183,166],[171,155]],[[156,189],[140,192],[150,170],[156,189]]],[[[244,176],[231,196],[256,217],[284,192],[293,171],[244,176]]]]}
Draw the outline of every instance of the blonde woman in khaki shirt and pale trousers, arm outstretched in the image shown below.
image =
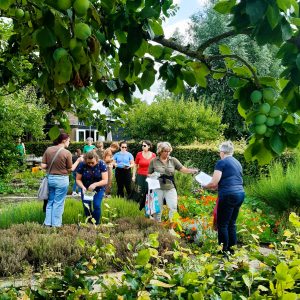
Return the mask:
{"type": "MultiPolygon", "coordinates": [[[[160,211],[163,210],[163,200],[166,200],[169,208],[169,219],[171,220],[173,214],[177,211],[177,192],[174,182],[175,170],[187,174],[198,173],[197,169],[189,169],[184,167],[178,159],[171,157],[171,144],[168,142],[161,142],[157,144],[157,157],[150,162],[148,173],[151,175],[154,172],[159,173],[160,188],[156,189],[160,205],[160,211]]],[[[161,221],[161,213],[153,215],[158,222],[161,221]]]]}

